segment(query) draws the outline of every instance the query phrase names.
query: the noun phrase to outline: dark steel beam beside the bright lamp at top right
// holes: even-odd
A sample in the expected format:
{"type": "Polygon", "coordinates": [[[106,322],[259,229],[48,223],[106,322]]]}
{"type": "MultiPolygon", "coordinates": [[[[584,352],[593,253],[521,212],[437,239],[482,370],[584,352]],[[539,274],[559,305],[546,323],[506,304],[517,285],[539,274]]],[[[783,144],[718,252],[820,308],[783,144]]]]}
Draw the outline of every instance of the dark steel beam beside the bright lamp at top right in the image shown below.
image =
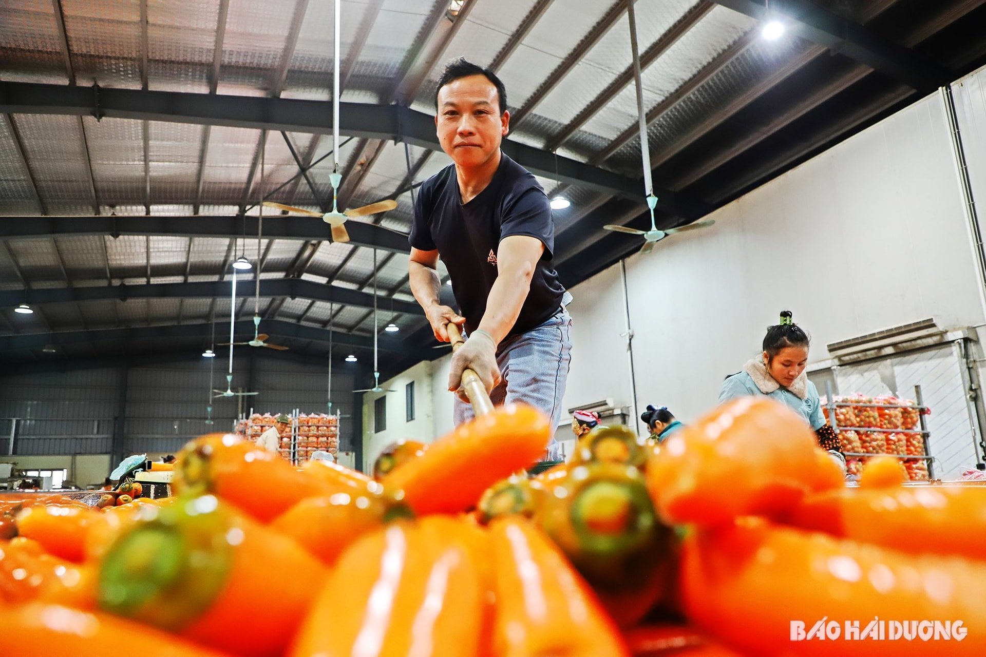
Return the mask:
{"type": "Polygon", "coordinates": [[[795,33],[919,92],[947,85],[955,73],[910,48],[885,40],[866,28],[839,18],[809,0],[715,0],[718,4],[757,21],[779,16],[795,33]]]}

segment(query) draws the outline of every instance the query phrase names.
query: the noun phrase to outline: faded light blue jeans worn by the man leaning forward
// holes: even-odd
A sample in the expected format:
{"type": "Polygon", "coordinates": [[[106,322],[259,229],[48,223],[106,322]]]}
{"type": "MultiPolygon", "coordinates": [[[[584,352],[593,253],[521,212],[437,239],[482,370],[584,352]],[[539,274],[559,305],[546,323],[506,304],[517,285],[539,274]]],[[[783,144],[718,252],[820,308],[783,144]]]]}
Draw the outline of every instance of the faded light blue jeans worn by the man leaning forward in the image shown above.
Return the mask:
{"type": "MultiPolygon", "coordinates": [[[[490,392],[496,406],[525,402],[548,416],[551,440],[545,445],[547,461],[561,460],[554,432],[561,421],[561,401],[572,361],[572,316],[564,307],[571,300],[566,292],[564,305],[547,321],[500,343],[496,361],[503,381],[490,392]]],[[[454,417],[457,427],[472,420],[472,407],[456,397],[454,417]]]]}

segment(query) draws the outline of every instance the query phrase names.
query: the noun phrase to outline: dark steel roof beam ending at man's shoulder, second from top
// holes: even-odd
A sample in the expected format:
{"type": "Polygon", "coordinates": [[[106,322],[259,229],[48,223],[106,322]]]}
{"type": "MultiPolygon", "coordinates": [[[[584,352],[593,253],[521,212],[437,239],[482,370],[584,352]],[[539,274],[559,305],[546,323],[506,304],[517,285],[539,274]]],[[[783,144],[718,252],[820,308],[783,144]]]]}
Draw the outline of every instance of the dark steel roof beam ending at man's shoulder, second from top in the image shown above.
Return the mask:
{"type": "MultiPolygon", "coordinates": [[[[0,239],[55,235],[161,235],[180,237],[240,238],[255,235],[257,217],[10,217],[0,222],[0,239]]],[[[407,236],[365,222],[346,222],[350,244],[384,251],[409,253],[407,236]]],[[[285,215],[263,218],[263,236],[268,239],[321,240],[328,238],[328,225],[314,217],[285,215]]]]}

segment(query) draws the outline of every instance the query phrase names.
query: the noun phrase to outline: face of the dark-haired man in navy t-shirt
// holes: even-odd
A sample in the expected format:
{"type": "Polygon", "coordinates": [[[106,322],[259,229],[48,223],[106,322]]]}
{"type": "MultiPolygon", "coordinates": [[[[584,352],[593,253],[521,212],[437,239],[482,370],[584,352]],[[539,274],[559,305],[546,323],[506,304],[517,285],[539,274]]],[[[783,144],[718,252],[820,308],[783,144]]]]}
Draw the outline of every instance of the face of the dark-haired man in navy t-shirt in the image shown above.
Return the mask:
{"type": "Polygon", "coordinates": [[[500,114],[496,87],[484,75],[455,80],[438,92],[435,126],[442,150],[458,166],[489,162],[510,127],[510,112],[500,114]]]}

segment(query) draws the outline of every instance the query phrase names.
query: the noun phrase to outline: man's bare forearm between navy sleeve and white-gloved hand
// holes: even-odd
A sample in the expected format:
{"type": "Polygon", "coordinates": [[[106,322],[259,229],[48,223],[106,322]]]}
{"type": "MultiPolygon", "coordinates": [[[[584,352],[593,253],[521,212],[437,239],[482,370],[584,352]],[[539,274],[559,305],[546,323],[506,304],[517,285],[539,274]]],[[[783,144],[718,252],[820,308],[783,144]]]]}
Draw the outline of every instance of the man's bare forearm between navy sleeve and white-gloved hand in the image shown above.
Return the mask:
{"type": "Polygon", "coordinates": [[[507,337],[521,314],[530,292],[530,279],[544,244],[537,237],[509,235],[497,249],[497,278],[486,298],[486,312],[479,330],[489,333],[496,344],[507,337]]]}

